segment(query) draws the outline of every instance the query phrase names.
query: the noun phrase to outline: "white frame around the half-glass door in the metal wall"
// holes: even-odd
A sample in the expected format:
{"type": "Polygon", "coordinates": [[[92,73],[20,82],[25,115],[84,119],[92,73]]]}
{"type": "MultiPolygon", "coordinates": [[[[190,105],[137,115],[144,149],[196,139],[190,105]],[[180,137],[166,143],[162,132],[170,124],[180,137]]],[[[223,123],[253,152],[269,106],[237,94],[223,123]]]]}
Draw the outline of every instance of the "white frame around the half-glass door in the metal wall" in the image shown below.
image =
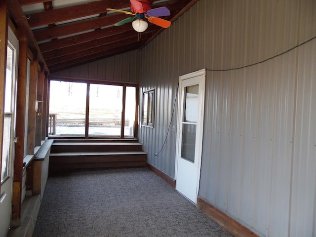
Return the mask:
{"type": "MultiPolygon", "coordinates": [[[[177,181],[178,179],[178,162],[181,156],[181,144],[180,144],[180,136],[181,136],[181,100],[183,99],[183,90],[182,90],[182,81],[185,79],[191,79],[198,76],[203,76],[202,79],[202,93],[201,93],[201,116],[198,120],[198,124],[200,124],[197,129],[199,129],[199,137],[197,137],[196,140],[196,149],[197,149],[197,194],[196,194],[196,200],[197,195],[199,191],[199,181],[200,181],[200,172],[201,172],[201,159],[202,159],[202,142],[203,142],[203,125],[204,125],[204,100],[205,100],[205,78],[206,78],[206,69],[201,69],[196,72],[192,72],[183,76],[179,77],[179,89],[178,89],[178,114],[177,114],[177,138],[176,138],[176,158],[175,158],[175,172],[174,177],[177,181]]],[[[197,201],[196,201],[197,202],[197,201]]],[[[195,203],[196,203],[195,202],[195,203]]]]}

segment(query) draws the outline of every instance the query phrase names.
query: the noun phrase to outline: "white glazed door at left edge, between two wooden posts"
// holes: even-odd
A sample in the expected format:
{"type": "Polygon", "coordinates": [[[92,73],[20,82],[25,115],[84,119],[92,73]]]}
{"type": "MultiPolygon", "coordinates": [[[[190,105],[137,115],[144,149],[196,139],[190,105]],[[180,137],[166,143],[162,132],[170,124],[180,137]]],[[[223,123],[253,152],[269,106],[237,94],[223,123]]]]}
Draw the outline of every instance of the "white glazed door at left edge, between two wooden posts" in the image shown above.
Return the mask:
{"type": "Polygon", "coordinates": [[[18,40],[9,29],[4,92],[4,120],[2,138],[0,237],[6,236],[11,224],[13,160],[15,137],[15,95],[17,76],[18,40]]]}

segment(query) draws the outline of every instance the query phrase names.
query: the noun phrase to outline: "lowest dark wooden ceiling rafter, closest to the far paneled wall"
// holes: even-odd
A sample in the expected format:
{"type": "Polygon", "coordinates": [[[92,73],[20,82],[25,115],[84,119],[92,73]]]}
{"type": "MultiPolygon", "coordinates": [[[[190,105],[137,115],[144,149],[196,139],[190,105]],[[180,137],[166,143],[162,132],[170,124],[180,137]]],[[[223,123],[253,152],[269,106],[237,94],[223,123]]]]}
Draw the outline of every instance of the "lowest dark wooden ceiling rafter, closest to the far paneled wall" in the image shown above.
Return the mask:
{"type": "Polygon", "coordinates": [[[144,41],[138,41],[132,45],[126,45],[124,47],[119,47],[119,48],[113,48],[107,51],[87,55],[85,57],[76,58],[62,64],[56,64],[56,65],[50,66],[49,70],[51,70],[51,73],[55,73],[55,72],[62,71],[68,68],[73,68],[73,67],[82,65],[83,63],[85,64],[85,63],[97,61],[103,58],[111,57],[120,53],[129,52],[129,51],[139,48],[143,43],[144,41]]]}

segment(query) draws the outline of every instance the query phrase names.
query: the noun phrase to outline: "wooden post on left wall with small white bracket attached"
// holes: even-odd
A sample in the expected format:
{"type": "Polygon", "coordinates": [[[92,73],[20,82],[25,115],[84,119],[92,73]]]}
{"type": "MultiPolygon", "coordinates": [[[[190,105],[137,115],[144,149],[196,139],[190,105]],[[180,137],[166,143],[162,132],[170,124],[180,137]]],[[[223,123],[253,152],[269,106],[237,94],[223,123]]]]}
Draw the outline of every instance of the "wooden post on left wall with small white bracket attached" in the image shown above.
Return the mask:
{"type": "Polygon", "coordinates": [[[38,111],[36,112],[36,131],[35,131],[35,146],[41,145],[41,130],[42,130],[42,114],[43,114],[43,92],[44,92],[44,78],[45,74],[44,71],[39,72],[38,77],[38,90],[37,90],[37,104],[38,104],[38,111]]]}

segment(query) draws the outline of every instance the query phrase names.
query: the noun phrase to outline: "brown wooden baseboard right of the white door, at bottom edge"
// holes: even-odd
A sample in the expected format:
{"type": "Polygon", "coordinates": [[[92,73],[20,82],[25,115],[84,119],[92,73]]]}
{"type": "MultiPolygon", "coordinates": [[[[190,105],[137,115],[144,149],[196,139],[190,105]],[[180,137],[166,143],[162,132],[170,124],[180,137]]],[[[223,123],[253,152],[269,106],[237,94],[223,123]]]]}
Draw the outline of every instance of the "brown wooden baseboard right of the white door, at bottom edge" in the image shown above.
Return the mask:
{"type": "Polygon", "coordinates": [[[200,197],[197,197],[197,208],[203,211],[214,221],[216,221],[220,226],[224,227],[235,237],[259,237],[258,235],[241,225],[239,222],[235,221],[224,212],[220,211],[200,197]]]}

